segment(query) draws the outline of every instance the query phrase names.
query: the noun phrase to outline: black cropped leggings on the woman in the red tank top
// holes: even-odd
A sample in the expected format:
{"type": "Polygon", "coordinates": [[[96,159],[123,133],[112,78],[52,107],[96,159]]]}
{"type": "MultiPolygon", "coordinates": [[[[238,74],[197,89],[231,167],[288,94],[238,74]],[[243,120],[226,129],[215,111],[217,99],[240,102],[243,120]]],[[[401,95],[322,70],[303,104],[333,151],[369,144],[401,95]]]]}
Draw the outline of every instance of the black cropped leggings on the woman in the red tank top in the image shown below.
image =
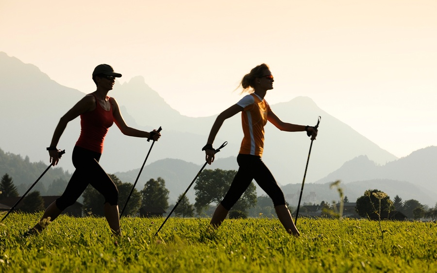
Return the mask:
{"type": "Polygon", "coordinates": [[[105,203],[118,205],[117,186],[101,168],[99,164],[100,156],[100,153],[74,146],[72,158],[76,170],[62,196],[56,199],[58,209],[64,210],[73,205],[85,191],[88,184],[91,184],[99,193],[103,194],[105,203]]]}

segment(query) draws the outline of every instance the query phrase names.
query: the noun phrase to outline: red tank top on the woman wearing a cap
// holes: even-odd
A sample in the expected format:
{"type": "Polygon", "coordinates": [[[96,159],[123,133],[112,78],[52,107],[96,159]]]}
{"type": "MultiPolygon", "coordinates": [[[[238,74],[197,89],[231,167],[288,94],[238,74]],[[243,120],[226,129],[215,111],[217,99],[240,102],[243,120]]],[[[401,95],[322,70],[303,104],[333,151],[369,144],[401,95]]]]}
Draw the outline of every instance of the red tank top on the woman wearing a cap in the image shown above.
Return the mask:
{"type": "Polygon", "coordinates": [[[103,141],[108,128],[114,123],[114,116],[112,115],[112,103],[110,103],[109,111],[106,111],[101,107],[96,96],[94,98],[96,99],[96,109],[81,114],[81,135],[76,146],[102,153],[103,141]]]}

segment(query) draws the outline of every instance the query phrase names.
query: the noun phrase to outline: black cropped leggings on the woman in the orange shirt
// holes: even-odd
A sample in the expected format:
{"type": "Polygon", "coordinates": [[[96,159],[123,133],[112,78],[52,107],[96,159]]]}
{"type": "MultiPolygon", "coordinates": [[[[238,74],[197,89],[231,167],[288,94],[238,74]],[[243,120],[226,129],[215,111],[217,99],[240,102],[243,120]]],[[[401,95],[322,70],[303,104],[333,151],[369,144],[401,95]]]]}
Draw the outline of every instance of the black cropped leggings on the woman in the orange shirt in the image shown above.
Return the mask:
{"type": "Polygon", "coordinates": [[[261,189],[269,195],[275,207],[286,204],[284,193],[261,160],[261,157],[238,154],[237,162],[239,166],[238,172],[231,183],[231,187],[221,201],[221,205],[225,209],[230,210],[235,205],[251,184],[252,179],[255,179],[261,189]]]}

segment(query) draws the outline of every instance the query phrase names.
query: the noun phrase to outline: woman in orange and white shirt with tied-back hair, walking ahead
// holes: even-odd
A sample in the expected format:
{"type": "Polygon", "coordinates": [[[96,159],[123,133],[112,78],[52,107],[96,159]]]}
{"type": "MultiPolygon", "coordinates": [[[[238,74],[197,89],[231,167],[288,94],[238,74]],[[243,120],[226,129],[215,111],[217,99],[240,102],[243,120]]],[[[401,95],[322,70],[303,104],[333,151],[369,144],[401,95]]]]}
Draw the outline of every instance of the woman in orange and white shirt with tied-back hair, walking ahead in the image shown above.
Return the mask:
{"type": "Polygon", "coordinates": [[[243,92],[253,92],[244,96],[235,105],[218,115],[211,128],[207,144],[202,148],[206,153],[206,161],[211,164],[214,161],[215,155],[212,144],[218,130],[226,119],[238,112],[242,112],[241,120],[244,137],[237,156],[239,168],[231,183],[231,187],[220,204],[218,204],[211,219],[210,224],[216,228],[221,225],[228,211],[249,187],[252,179],[255,179],[261,189],[272,199],[276,214],[286,231],[294,236],[300,235],[286,206],[284,193],[261,160],[264,148],[264,126],[269,121],[282,131],[306,131],[312,140],[316,139],[317,129],[310,126],[285,123],[271,111],[264,97],[267,90],[273,89],[273,81],[273,76],[267,64],[260,64],[254,67],[249,74],[246,74],[241,80],[243,92]]]}

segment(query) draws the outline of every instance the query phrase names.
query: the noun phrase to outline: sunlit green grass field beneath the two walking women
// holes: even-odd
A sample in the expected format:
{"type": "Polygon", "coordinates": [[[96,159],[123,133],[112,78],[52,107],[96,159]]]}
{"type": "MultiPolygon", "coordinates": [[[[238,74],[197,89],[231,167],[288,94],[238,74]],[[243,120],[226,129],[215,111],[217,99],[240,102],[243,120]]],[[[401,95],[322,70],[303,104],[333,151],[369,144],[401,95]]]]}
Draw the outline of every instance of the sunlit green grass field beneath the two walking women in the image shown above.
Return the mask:
{"type": "Polygon", "coordinates": [[[60,216],[23,238],[40,214],[12,213],[0,226],[1,272],[437,272],[437,225],[299,219],[289,236],[277,219],[122,218],[123,237],[103,218],[60,216]],[[118,245],[115,245],[118,241],[118,245]]]}

